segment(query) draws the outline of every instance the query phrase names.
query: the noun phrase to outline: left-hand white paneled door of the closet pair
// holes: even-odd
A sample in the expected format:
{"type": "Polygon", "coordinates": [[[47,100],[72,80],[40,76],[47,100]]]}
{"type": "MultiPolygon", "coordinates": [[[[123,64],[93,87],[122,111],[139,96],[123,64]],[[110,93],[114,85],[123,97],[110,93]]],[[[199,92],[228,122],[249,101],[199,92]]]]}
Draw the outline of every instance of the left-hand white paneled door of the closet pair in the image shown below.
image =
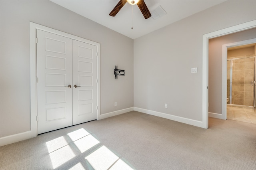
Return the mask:
{"type": "Polygon", "coordinates": [[[72,40],[37,30],[38,134],[72,125],[72,40]]]}

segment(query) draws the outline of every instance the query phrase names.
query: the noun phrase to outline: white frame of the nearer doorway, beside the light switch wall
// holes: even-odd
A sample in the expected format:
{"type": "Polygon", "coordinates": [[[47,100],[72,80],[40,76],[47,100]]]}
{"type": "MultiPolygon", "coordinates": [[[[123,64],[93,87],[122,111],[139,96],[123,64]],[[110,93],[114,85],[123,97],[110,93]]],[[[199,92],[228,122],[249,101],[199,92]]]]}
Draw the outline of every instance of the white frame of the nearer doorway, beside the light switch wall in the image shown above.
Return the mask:
{"type": "MultiPolygon", "coordinates": [[[[256,28],[256,20],[232,26],[229,28],[224,28],[215,32],[211,32],[203,35],[203,57],[202,57],[202,125],[204,128],[208,128],[208,51],[209,51],[209,39],[216,38],[220,36],[225,36],[235,32],[240,32],[248,30],[251,28],[256,28]]],[[[222,80],[223,81],[223,80],[222,80]]],[[[222,87],[223,88],[223,87],[222,87]]],[[[226,87],[225,87],[226,88],[226,87]]],[[[223,91],[223,89],[222,89],[223,91]]],[[[226,101],[223,99],[222,103],[226,101]]],[[[222,104],[223,111],[223,104],[222,104]]],[[[223,113],[222,113],[223,114],[223,113]]]]}

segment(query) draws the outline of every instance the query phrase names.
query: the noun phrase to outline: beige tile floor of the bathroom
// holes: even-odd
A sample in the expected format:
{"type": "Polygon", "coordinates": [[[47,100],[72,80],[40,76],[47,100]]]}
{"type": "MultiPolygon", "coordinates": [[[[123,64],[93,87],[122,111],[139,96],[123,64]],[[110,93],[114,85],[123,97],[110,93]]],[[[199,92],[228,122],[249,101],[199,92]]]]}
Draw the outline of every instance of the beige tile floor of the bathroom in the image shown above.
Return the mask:
{"type": "Polygon", "coordinates": [[[227,119],[256,124],[256,110],[227,106],[227,119]]]}

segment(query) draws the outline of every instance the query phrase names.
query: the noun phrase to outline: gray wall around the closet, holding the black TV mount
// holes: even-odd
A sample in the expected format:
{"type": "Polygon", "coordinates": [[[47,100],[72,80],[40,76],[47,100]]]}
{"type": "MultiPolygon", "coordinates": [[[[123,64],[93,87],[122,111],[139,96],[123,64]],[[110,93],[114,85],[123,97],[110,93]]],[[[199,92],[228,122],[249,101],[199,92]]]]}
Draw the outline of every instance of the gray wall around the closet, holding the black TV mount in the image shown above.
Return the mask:
{"type": "Polygon", "coordinates": [[[133,107],[132,39],[50,1],[0,4],[1,137],[30,130],[30,21],[100,43],[101,114],[133,107]],[[115,65],[125,70],[117,80],[115,65]]]}

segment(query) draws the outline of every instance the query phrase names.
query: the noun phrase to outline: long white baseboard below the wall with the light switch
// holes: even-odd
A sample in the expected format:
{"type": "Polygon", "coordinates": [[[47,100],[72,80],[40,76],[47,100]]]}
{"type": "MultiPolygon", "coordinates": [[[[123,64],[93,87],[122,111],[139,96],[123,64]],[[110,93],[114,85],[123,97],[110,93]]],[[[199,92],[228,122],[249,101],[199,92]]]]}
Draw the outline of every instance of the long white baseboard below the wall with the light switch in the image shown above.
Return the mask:
{"type": "Polygon", "coordinates": [[[138,112],[146,113],[146,114],[149,114],[149,115],[154,115],[154,116],[162,117],[162,118],[165,118],[165,119],[170,119],[172,121],[177,121],[177,122],[181,122],[181,123],[186,123],[188,125],[193,125],[193,126],[196,126],[196,127],[204,128],[204,125],[203,125],[202,121],[196,121],[196,120],[187,119],[187,118],[184,118],[184,117],[169,115],[169,114],[166,114],[166,113],[150,111],[150,110],[141,109],[141,108],[138,108],[138,107],[134,107],[134,111],[138,111],[138,112]]]}

